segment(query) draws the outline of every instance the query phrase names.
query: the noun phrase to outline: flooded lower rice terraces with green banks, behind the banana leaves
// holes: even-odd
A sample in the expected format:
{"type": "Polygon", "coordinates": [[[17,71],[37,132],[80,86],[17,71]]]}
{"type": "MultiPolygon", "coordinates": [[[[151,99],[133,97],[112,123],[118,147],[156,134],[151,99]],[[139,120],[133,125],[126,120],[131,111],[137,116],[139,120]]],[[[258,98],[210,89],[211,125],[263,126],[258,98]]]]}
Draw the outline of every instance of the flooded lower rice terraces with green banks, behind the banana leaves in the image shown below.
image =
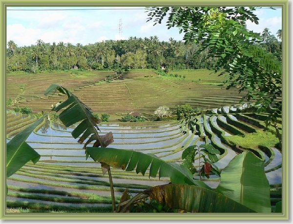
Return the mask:
{"type": "MultiPolygon", "coordinates": [[[[232,112],[231,109],[230,112],[232,112]]],[[[14,123],[19,121],[22,115],[8,113],[7,116],[9,123],[14,123]]],[[[262,131],[263,121],[254,117],[255,114],[213,113],[193,117],[191,126],[186,120],[142,123],[111,122],[102,123],[100,129],[101,134],[109,131],[113,133],[114,143],[108,147],[153,153],[161,159],[176,163],[182,163],[182,152],[189,145],[210,143],[221,152],[220,161],[216,163],[220,170],[238,153],[243,150],[251,150],[265,161],[265,172],[272,186],[272,205],[274,205],[281,200],[281,152],[266,142],[253,148],[247,148],[229,140],[229,137],[238,134],[237,132],[232,134],[232,129],[247,135],[262,131]]],[[[22,119],[29,120],[25,117],[22,119]]],[[[33,119],[31,119],[32,121],[33,119]]],[[[99,163],[95,163],[91,159],[85,160],[82,145],[71,137],[73,128],[66,128],[58,122],[46,121],[27,139],[27,143],[41,155],[41,160],[36,164],[28,163],[8,178],[8,205],[13,206],[16,201],[22,201],[24,207],[27,206],[36,212],[38,211],[36,207],[58,210],[62,206],[76,206],[77,208],[82,206],[89,211],[98,209],[94,211],[110,212],[108,179],[102,174],[99,163]],[[42,191],[42,199],[36,199],[40,195],[40,189],[45,189],[45,193],[42,191]],[[64,197],[59,197],[64,194],[64,197]],[[96,199],[93,195],[100,197],[96,199]]],[[[12,137],[13,134],[8,135],[8,139],[12,137]]],[[[197,164],[196,161],[195,164],[197,164]]],[[[149,179],[147,172],[145,176],[142,176],[135,172],[113,169],[112,173],[117,200],[125,188],[136,193],[150,186],[169,182],[167,179],[149,179]]],[[[216,187],[219,183],[216,176],[211,176],[205,181],[211,187],[216,187]]]]}

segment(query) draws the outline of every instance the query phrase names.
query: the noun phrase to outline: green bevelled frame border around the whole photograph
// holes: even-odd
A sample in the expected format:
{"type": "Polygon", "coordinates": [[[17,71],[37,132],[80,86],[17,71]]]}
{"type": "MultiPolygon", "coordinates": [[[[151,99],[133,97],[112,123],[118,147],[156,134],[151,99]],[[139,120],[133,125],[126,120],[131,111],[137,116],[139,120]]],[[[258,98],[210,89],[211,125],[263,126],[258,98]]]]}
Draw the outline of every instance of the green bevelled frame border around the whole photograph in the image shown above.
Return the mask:
{"type": "MultiPolygon", "coordinates": [[[[4,127],[1,135],[1,142],[3,143],[3,149],[6,149],[6,138],[5,130],[6,126],[4,123],[5,116],[5,52],[6,52],[6,6],[40,6],[40,3],[37,3],[37,0],[0,0],[0,15],[1,17],[1,30],[3,35],[1,36],[0,50],[2,54],[0,55],[0,67],[3,68],[3,81],[1,83],[2,94],[1,96],[3,104],[1,104],[0,113],[0,125],[4,127]]],[[[40,2],[40,1],[39,1],[40,2]]],[[[162,6],[162,5],[188,5],[195,4],[194,0],[144,0],[135,2],[134,0],[71,0],[71,3],[67,3],[64,0],[43,0],[42,5],[47,4],[48,6],[162,6]],[[73,2],[73,3],[72,3],[73,2]]],[[[283,213],[278,215],[274,213],[270,214],[255,214],[255,215],[243,215],[243,214],[116,214],[116,213],[101,213],[101,214],[54,214],[48,215],[47,213],[41,214],[15,214],[15,215],[4,215],[5,211],[5,196],[6,196],[6,179],[4,179],[5,171],[5,151],[2,151],[3,162],[1,166],[1,180],[3,184],[0,184],[0,200],[3,204],[0,204],[0,218],[1,219],[11,219],[11,220],[289,220],[289,0],[239,0],[237,3],[234,3],[232,0],[209,0],[209,4],[205,0],[197,0],[197,5],[218,5],[223,6],[227,4],[229,6],[235,5],[247,5],[247,6],[282,6],[282,30],[283,30],[283,213]],[[286,121],[286,122],[284,122],[286,121]]],[[[291,2],[292,3],[292,2],[291,2]]]]}

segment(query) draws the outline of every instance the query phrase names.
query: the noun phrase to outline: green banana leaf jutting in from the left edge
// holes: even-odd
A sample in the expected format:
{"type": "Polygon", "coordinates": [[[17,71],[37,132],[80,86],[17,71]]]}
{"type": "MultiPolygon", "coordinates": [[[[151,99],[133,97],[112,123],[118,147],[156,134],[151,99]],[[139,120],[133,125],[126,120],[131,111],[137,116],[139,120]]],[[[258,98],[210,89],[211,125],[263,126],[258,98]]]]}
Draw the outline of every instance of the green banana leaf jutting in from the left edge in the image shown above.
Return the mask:
{"type": "Polygon", "coordinates": [[[45,117],[46,115],[42,116],[42,118],[22,130],[7,143],[6,177],[10,177],[30,160],[33,163],[37,163],[40,160],[41,156],[39,153],[28,145],[25,140],[42,123],[45,117]]]}

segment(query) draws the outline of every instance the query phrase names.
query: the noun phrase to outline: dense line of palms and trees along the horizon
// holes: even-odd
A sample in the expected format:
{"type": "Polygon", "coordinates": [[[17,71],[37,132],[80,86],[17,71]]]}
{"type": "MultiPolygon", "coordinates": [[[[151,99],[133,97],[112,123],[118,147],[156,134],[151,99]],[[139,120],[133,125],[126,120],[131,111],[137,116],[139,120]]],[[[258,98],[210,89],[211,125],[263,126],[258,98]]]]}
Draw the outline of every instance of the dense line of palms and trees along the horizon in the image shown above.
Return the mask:
{"type": "MultiPolygon", "coordinates": [[[[281,60],[282,31],[277,38],[268,28],[262,32],[260,45],[281,60]]],[[[130,37],[128,40],[102,41],[93,44],[76,45],[60,41],[45,43],[37,40],[31,46],[21,46],[10,40],[7,43],[7,72],[24,71],[36,73],[41,71],[69,70],[119,70],[119,69],[210,69],[216,59],[208,56],[208,49],[196,54],[201,43],[176,41],[159,41],[157,36],[149,38],[130,37]]]]}

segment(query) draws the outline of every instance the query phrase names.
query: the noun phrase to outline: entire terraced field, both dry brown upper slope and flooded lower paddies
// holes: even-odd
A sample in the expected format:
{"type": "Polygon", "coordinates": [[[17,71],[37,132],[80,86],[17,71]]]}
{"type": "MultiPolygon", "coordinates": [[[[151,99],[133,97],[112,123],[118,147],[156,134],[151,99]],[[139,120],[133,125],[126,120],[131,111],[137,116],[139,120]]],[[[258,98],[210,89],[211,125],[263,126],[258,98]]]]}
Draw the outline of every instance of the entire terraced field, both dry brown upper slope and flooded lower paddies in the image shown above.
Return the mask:
{"type": "MultiPolygon", "coordinates": [[[[175,163],[182,163],[182,152],[188,146],[210,143],[221,152],[220,161],[216,163],[220,170],[238,153],[251,150],[265,161],[272,206],[281,201],[282,153],[274,146],[278,140],[275,138],[273,142],[267,142],[263,139],[253,147],[239,143],[237,136],[243,135],[249,141],[253,136],[264,133],[267,115],[241,113],[244,107],[225,106],[239,101],[241,96],[237,89],[228,91],[221,86],[184,80],[166,81],[155,74],[145,77],[149,71],[130,72],[124,74],[123,79],[107,80],[109,74],[105,72],[87,80],[75,79],[70,74],[63,77],[56,74],[51,76],[56,79],[54,81],[45,77],[37,80],[36,75],[20,76],[25,87],[13,88],[7,81],[7,98],[12,96],[17,100],[13,107],[27,105],[34,112],[50,110],[51,104],[61,100],[62,96],[47,99],[42,96],[43,92],[52,82],[68,79],[64,86],[99,114],[107,112],[114,115],[134,110],[152,114],[158,106],[175,108],[184,103],[194,108],[206,108],[205,115],[193,116],[190,120],[138,123],[112,120],[100,123],[99,127],[102,135],[109,131],[113,133],[114,142],[108,147],[153,153],[175,163]],[[32,99],[29,99],[30,88],[34,89],[32,99]],[[206,100],[202,99],[204,97],[206,100]]],[[[7,141],[35,120],[33,116],[7,110],[7,141]]],[[[281,130],[281,121],[278,125],[281,130]]],[[[108,178],[102,174],[99,163],[90,158],[85,160],[83,145],[71,136],[73,129],[74,126],[66,128],[60,122],[46,120],[30,135],[26,142],[41,155],[41,160],[36,164],[27,163],[7,179],[8,206],[21,204],[29,212],[64,212],[72,208],[75,212],[111,212],[108,178]]],[[[269,131],[265,134],[272,135],[269,131]]],[[[112,176],[117,203],[125,188],[135,194],[150,186],[169,182],[168,179],[149,179],[148,172],[142,176],[120,169],[112,169],[112,176]]],[[[216,176],[205,181],[211,187],[219,183],[216,176]]]]}

